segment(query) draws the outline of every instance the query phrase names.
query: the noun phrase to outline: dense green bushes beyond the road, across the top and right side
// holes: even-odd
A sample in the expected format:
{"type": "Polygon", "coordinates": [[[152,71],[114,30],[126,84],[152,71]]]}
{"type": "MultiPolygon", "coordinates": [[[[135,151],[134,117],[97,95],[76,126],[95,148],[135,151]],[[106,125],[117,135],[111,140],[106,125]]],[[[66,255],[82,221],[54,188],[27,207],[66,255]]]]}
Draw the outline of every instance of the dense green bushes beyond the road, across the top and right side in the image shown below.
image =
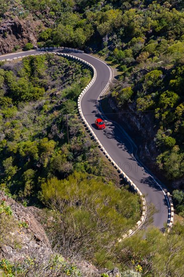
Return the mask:
{"type": "Polygon", "coordinates": [[[22,0],[9,8],[2,4],[2,11],[42,20],[38,45],[100,50],[120,64],[123,74],[113,92],[118,106],[132,102],[140,113],[154,110],[155,162],[168,179],[183,176],[182,1],[22,0]]]}

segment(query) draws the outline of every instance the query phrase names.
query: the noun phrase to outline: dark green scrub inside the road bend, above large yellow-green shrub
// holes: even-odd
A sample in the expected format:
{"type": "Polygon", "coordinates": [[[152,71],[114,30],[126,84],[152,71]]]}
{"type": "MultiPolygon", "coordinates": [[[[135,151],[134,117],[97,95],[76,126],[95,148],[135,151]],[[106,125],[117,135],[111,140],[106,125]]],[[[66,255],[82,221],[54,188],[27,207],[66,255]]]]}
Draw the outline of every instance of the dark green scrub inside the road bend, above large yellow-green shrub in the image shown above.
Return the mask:
{"type": "Polygon", "coordinates": [[[76,99],[90,71],[51,55],[2,64],[0,71],[1,183],[29,200],[53,175],[101,174],[93,167],[101,159],[76,115],[76,99]]]}

